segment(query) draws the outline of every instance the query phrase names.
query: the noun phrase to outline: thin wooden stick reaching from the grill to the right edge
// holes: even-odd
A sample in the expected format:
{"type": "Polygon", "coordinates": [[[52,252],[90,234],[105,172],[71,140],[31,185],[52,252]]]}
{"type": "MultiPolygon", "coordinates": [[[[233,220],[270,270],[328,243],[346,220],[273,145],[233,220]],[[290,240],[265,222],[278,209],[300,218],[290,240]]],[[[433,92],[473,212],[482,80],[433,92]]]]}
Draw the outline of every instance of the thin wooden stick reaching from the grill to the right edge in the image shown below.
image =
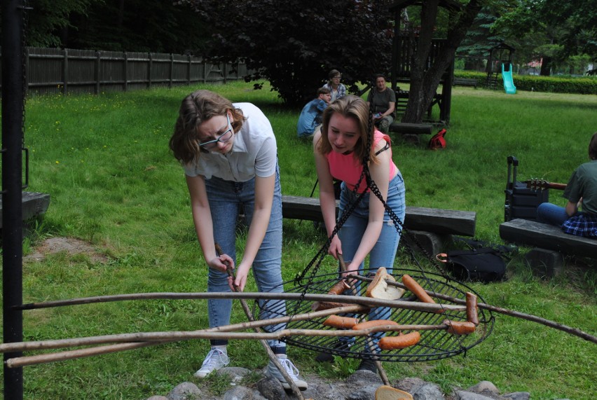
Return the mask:
{"type": "MultiPolygon", "coordinates": [[[[352,278],[355,278],[358,280],[362,280],[365,282],[372,281],[371,278],[362,277],[360,275],[349,275],[349,277],[352,277],[352,278]]],[[[387,282],[387,284],[390,284],[390,285],[393,285],[396,287],[401,287],[402,289],[406,289],[404,284],[402,284],[400,282],[390,282],[390,281],[386,281],[386,282],[387,282]]],[[[467,303],[466,300],[448,296],[446,294],[434,293],[433,291],[428,291],[428,290],[426,290],[426,292],[427,292],[427,294],[429,294],[432,297],[440,298],[441,300],[444,300],[444,301],[451,301],[452,303],[455,303],[455,304],[466,304],[467,303]]],[[[446,307],[446,305],[444,305],[444,307],[446,307]]],[[[590,335],[589,333],[581,331],[578,328],[572,328],[571,326],[559,324],[558,322],[554,322],[549,319],[537,317],[537,315],[525,314],[524,312],[508,310],[507,308],[496,307],[495,305],[490,305],[490,304],[486,304],[486,303],[477,303],[477,307],[483,308],[483,310],[499,312],[500,314],[508,315],[509,317],[515,317],[515,318],[520,318],[520,319],[526,319],[527,321],[531,321],[531,322],[537,322],[537,324],[549,326],[550,328],[558,329],[560,331],[564,331],[565,333],[570,333],[570,335],[578,336],[579,338],[582,338],[584,340],[589,340],[589,342],[597,343],[596,336],[590,335]]]]}

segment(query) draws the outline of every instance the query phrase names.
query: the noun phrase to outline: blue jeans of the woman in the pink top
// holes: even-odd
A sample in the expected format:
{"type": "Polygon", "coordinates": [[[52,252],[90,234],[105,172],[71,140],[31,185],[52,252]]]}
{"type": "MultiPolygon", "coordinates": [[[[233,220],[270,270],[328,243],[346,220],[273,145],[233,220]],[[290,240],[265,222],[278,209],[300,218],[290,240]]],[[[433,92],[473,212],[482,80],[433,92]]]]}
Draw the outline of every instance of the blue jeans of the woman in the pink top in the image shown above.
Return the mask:
{"type": "MultiPolygon", "coordinates": [[[[404,223],[404,215],[406,214],[405,202],[405,188],[402,175],[398,174],[387,188],[387,205],[398,216],[400,221],[404,223]]],[[[342,242],[342,254],[346,263],[350,263],[355,256],[359,244],[361,243],[367,224],[369,223],[369,199],[372,193],[366,193],[359,205],[350,214],[344,225],[338,232],[338,237],[342,242]]],[[[374,195],[373,195],[374,196],[374,195]]],[[[338,219],[344,213],[350,202],[355,201],[357,195],[352,193],[345,184],[342,184],[342,192],[340,195],[340,213],[338,219]]],[[[402,232],[402,226],[399,226],[402,232]]],[[[383,227],[376,244],[369,253],[369,272],[375,273],[379,267],[385,267],[387,273],[392,273],[394,266],[394,258],[398,249],[398,242],[400,241],[400,233],[394,225],[394,221],[390,218],[390,214],[385,211],[383,214],[383,227]]],[[[364,268],[364,263],[359,265],[359,271],[364,268]]],[[[391,309],[387,307],[373,308],[369,313],[369,319],[387,319],[390,317],[391,309]]],[[[373,343],[377,343],[383,333],[373,334],[373,343]]]]}

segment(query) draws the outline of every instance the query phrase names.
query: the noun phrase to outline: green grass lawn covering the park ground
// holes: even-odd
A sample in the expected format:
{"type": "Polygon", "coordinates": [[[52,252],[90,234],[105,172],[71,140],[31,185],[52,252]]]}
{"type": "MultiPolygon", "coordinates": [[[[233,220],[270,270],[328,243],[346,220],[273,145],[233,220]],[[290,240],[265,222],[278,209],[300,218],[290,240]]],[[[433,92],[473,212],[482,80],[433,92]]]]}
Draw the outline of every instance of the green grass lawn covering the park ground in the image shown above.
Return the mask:
{"type": "MultiPolygon", "coordinates": [[[[27,240],[32,249],[51,236],[91,242],[109,263],[66,253],[24,265],[25,303],[82,296],[206,290],[207,271],[189,208],[184,174],[167,148],[181,99],[193,88],[154,89],[95,96],[33,97],[27,102],[25,145],[31,154],[30,191],[50,193],[48,212],[27,240]]],[[[298,109],[251,83],[209,85],[234,102],[260,106],[273,125],[282,193],[310,195],[315,183],[308,142],[296,137],[298,109]]],[[[396,140],[394,161],[406,181],[407,205],[471,210],[481,239],[499,242],[504,218],[507,156],[520,160],[519,180],[568,181],[587,160],[597,127],[597,97],[455,88],[448,147],[428,151],[396,140]]],[[[561,202],[551,191],[552,202],[561,202]]],[[[325,238],[307,221],[284,221],[282,273],[291,280],[325,238]]],[[[243,240],[239,241],[242,250],[243,240]]],[[[569,263],[564,277],[541,281],[508,265],[509,280],[473,284],[487,303],[597,333],[597,275],[569,263]]],[[[430,265],[423,257],[423,265],[430,265]]],[[[326,260],[325,270],[334,263],[326,260]]],[[[409,267],[399,254],[397,265],[409,267]]],[[[412,265],[410,265],[412,267],[412,265]]],[[[248,291],[254,291],[250,280],[248,291]]],[[[235,321],[245,319],[235,304],[235,321]]],[[[466,357],[429,363],[384,363],[390,379],[418,376],[449,391],[490,380],[502,392],[528,391],[533,399],[591,399],[597,382],[597,347],[542,325],[496,315],[495,330],[466,357]]],[[[25,339],[74,338],[207,326],[204,301],[137,301],[79,305],[24,313],[25,339]]],[[[145,399],[167,394],[192,373],[207,340],[172,343],[24,368],[25,399],[145,399]]],[[[256,342],[228,350],[235,366],[262,368],[256,342]]],[[[353,366],[320,365],[299,348],[290,356],[303,373],[343,378],[353,366]]],[[[33,354],[33,353],[32,353],[33,354]]],[[[225,382],[214,382],[221,391],[225,382]]]]}

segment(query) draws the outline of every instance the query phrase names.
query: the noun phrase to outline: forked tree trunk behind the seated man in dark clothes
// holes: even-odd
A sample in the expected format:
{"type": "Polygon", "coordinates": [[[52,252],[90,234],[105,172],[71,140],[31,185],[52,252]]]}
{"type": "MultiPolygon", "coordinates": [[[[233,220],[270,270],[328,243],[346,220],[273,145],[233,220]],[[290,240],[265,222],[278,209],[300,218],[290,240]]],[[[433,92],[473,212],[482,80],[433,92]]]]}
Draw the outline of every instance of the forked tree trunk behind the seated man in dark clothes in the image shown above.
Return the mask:
{"type": "MultiPolygon", "coordinates": [[[[451,22],[448,29],[446,43],[441,48],[435,60],[429,64],[433,28],[437,21],[439,0],[424,1],[421,6],[421,31],[418,36],[416,52],[411,63],[411,90],[409,102],[402,117],[404,123],[421,123],[437,92],[437,86],[444,76],[446,69],[454,60],[456,48],[465,38],[467,30],[474,18],[481,11],[481,0],[471,0],[458,15],[451,15],[451,20],[458,16],[458,20],[451,22]]],[[[448,77],[448,78],[451,78],[448,77]]]]}

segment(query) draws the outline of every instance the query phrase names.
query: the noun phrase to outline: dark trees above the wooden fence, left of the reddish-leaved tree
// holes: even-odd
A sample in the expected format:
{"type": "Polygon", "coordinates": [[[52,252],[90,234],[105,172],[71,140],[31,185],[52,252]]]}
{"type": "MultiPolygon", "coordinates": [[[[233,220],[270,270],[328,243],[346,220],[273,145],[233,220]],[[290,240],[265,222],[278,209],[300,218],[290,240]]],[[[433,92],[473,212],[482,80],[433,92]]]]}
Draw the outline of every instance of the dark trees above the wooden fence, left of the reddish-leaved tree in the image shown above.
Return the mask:
{"type": "Polygon", "coordinates": [[[27,46],[186,53],[209,36],[188,6],[163,0],[25,0],[27,46]]]}

